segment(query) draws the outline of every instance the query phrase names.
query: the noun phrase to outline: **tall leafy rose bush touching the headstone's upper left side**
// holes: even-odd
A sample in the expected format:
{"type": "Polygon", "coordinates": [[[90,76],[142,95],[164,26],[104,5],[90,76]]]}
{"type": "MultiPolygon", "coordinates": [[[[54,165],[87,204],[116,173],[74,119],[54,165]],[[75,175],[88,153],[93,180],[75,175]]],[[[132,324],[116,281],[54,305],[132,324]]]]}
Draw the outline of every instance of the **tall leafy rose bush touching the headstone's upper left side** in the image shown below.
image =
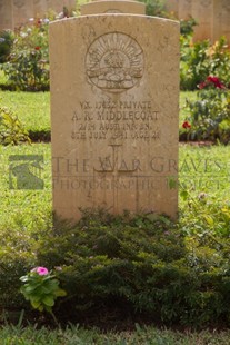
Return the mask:
{"type": "Polygon", "coordinates": [[[48,19],[39,19],[16,32],[11,53],[2,69],[11,88],[49,89],[48,19]]]}

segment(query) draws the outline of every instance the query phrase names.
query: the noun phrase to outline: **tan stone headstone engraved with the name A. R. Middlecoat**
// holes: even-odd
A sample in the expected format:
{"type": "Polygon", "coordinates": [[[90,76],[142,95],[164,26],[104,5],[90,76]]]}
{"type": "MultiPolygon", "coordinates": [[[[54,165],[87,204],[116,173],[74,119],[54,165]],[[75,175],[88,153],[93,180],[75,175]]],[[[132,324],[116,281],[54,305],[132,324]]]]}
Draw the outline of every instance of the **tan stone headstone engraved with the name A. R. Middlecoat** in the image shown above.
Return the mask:
{"type": "Polygon", "coordinates": [[[123,13],[50,24],[53,209],[178,211],[179,23],[123,13]]]}

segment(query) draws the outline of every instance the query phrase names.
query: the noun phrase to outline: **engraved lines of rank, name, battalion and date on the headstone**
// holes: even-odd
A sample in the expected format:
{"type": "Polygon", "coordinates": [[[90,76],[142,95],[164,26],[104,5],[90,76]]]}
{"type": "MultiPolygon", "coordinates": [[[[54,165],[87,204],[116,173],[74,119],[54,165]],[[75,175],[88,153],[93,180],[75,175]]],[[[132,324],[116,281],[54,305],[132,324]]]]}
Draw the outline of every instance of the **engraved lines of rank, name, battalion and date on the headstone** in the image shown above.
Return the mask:
{"type": "Polygon", "coordinates": [[[151,100],[81,101],[71,117],[71,138],[159,140],[159,116],[151,100]]]}

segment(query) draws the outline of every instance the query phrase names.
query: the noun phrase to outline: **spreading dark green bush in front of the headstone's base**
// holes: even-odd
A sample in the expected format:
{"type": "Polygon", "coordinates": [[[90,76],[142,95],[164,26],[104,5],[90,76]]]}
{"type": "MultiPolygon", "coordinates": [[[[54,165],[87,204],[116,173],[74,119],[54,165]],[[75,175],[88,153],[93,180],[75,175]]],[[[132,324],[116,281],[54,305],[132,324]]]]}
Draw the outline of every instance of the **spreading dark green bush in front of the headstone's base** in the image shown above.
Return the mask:
{"type": "Polygon", "coordinates": [[[87,213],[77,226],[53,228],[39,245],[38,264],[61,269],[68,297],[59,315],[68,310],[68,319],[113,304],[167,325],[228,324],[229,258],[209,241],[188,241],[164,217],[87,213]]]}

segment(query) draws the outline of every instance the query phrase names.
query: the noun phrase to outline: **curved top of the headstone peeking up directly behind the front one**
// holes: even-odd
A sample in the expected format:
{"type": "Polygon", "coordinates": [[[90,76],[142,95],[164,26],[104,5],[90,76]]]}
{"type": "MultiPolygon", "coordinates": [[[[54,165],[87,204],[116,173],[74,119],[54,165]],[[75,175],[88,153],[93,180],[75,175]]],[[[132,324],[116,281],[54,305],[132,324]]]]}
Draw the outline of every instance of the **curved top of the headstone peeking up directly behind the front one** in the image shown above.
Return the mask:
{"type": "Polygon", "coordinates": [[[146,14],[146,4],[130,0],[92,0],[81,6],[81,16],[99,13],[146,14]]]}

